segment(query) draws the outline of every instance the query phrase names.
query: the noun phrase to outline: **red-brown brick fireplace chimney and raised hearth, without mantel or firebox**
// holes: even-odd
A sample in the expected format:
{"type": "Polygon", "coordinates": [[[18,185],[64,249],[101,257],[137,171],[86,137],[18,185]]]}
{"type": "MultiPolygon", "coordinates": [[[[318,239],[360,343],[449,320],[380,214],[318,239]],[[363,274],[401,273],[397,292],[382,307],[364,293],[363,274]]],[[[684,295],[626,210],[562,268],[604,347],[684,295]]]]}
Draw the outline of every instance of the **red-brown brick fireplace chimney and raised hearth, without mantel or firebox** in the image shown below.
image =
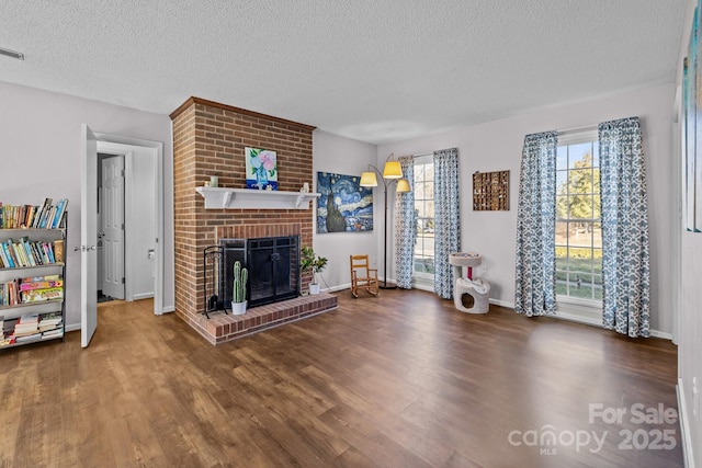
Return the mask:
{"type": "MultiPolygon", "coordinates": [[[[176,313],[213,344],[268,327],[336,308],[336,296],[321,294],[249,309],[244,316],[204,310],[203,251],[223,238],[299,236],[312,246],[314,203],[303,209],[205,209],[195,192],[212,175],[219,186],[245,189],[245,148],[276,151],[278,190],[313,186],[312,133],[315,127],[190,98],[171,114],[173,122],[173,203],[176,313]]],[[[312,281],[302,277],[303,290],[312,281]]]]}

